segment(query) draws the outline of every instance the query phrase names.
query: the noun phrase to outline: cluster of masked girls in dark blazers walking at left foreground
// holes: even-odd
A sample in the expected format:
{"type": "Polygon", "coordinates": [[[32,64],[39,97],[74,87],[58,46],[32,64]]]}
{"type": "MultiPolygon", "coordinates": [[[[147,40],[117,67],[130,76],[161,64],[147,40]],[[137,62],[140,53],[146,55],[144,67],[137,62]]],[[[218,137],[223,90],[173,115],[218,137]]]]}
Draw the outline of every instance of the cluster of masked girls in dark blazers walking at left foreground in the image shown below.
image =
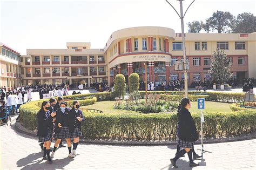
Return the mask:
{"type": "Polygon", "coordinates": [[[38,142],[43,142],[43,159],[52,164],[52,158],[56,149],[61,144],[62,139],[66,139],[68,144],[68,157],[74,158],[79,138],[82,137],[81,122],[84,120],[82,110],[79,109],[79,101],[73,101],[72,108],[67,107],[67,103],[62,97],[58,99],[50,98],[43,101],[41,109],[37,113],[38,120],[38,142]],[[73,149],[71,151],[71,139],[73,138],[73,149]],[[53,151],[50,156],[51,141],[56,139],[53,151]],[[47,155],[47,157],[46,157],[47,155]]]}

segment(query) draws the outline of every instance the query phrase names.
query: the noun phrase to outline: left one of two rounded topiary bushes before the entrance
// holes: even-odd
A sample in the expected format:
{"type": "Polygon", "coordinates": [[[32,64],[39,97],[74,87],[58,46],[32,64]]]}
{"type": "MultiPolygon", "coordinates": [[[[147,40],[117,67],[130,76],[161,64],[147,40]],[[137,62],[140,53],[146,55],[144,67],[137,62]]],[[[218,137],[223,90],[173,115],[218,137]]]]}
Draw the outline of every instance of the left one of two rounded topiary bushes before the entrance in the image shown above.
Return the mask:
{"type": "Polygon", "coordinates": [[[117,93],[117,96],[120,98],[125,95],[125,77],[123,74],[117,74],[116,78],[114,78],[114,91],[117,93]]]}

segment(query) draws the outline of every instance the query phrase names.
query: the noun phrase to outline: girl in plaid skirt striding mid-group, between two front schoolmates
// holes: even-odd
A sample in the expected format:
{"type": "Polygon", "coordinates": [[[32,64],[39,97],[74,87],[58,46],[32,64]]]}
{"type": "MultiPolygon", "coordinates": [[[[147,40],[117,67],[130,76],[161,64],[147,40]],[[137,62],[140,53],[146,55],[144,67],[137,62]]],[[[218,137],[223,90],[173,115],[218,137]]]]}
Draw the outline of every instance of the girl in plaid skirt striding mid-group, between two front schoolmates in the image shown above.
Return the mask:
{"type": "Polygon", "coordinates": [[[68,127],[68,114],[69,109],[66,107],[67,104],[65,101],[60,103],[59,109],[56,111],[56,121],[55,121],[55,135],[54,138],[56,139],[53,151],[51,153],[51,157],[54,157],[56,152],[56,148],[59,145],[59,142],[62,139],[66,139],[69,148],[69,155],[68,157],[74,158],[75,156],[71,153],[71,139],[68,127]]]}

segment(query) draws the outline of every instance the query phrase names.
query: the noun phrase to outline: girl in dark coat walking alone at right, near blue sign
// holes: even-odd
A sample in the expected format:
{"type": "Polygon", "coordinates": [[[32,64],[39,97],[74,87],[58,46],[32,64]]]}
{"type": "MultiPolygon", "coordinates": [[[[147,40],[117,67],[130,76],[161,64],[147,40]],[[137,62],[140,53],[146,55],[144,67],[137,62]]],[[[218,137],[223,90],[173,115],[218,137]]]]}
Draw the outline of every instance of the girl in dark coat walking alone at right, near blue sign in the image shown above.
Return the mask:
{"type": "Polygon", "coordinates": [[[184,148],[176,154],[171,160],[171,164],[174,167],[178,167],[176,165],[176,161],[183,157],[185,153],[187,153],[188,158],[190,159],[190,167],[199,166],[198,164],[194,163],[192,158],[192,149],[194,145],[194,141],[198,139],[198,132],[194,120],[188,111],[191,108],[191,102],[188,98],[183,98],[180,101],[180,105],[178,108],[178,126],[177,126],[177,135],[178,135],[178,142],[177,147],[184,148]]]}

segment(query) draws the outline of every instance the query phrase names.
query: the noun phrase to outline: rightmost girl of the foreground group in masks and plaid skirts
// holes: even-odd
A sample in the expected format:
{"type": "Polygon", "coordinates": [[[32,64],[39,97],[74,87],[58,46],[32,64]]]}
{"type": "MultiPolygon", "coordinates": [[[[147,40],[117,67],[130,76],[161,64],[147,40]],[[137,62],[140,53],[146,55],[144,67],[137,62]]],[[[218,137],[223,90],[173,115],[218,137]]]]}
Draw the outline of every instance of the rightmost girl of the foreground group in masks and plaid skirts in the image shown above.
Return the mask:
{"type": "Polygon", "coordinates": [[[79,109],[80,104],[78,101],[73,101],[72,109],[68,114],[68,122],[69,122],[69,132],[70,137],[73,139],[73,155],[78,155],[76,152],[77,145],[79,142],[79,137],[82,137],[81,132],[81,122],[84,120],[84,115],[82,110],[79,109]]]}

